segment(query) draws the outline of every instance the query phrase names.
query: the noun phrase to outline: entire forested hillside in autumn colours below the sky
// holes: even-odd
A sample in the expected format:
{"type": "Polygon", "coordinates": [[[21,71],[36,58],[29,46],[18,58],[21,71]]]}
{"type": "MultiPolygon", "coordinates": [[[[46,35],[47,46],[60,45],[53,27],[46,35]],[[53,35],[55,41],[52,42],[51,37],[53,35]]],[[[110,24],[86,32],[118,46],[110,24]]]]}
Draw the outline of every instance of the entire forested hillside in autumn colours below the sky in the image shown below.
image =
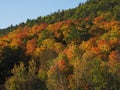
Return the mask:
{"type": "Polygon", "coordinates": [[[0,90],[120,90],[120,0],[1,29],[0,90]]]}

